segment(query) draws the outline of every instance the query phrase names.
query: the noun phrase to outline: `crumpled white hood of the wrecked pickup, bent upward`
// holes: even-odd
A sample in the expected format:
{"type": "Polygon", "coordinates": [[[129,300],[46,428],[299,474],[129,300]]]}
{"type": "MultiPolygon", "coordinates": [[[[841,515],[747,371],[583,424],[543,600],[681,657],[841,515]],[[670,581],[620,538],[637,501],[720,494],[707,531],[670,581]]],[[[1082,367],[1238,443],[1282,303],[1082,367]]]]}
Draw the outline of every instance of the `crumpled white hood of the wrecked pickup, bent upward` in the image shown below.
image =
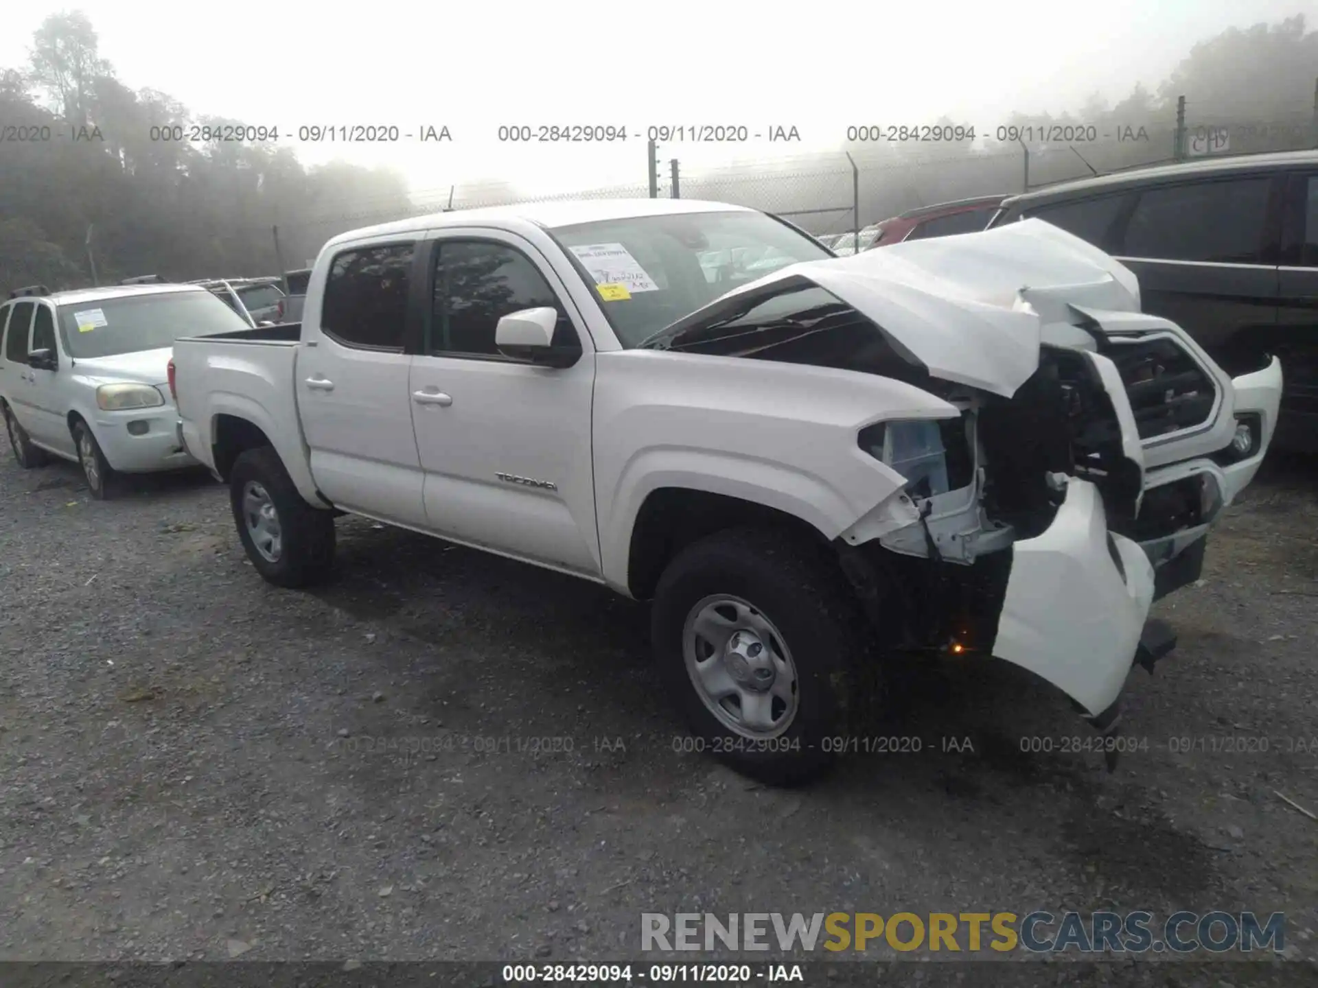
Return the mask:
{"type": "Polygon", "coordinates": [[[805,261],[725,298],[791,277],[874,320],[933,377],[1007,398],[1037,369],[1046,327],[1083,319],[1072,306],[1140,306],[1128,267],[1043,220],[805,261]]]}

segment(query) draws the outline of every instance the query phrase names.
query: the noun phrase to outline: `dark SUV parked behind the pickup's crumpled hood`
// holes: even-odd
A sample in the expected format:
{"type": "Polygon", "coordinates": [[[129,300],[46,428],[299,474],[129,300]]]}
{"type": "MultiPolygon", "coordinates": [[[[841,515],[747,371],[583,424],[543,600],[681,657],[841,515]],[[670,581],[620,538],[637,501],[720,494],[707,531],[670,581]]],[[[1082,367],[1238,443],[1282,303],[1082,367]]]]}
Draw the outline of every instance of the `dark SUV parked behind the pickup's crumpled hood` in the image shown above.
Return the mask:
{"type": "Polygon", "coordinates": [[[1273,445],[1318,452],[1318,150],[1068,182],[1007,199],[988,225],[1031,216],[1119,258],[1144,310],[1228,374],[1280,357],[1273,445]]]}

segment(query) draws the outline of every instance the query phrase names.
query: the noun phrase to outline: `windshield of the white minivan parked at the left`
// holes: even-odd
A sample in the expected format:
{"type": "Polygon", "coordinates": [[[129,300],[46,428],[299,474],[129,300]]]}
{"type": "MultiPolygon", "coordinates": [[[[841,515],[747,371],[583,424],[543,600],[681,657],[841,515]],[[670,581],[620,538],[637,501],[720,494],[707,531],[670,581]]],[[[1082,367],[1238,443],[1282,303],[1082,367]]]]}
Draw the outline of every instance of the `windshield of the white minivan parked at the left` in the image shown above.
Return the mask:
{"type": "Polygon", "coordinates": [[[59,307],[59,337],[70,357],[91,360],[173,346],[181,336],[214,336],[248,329],[208,291],[121,295],[59,307]]]}

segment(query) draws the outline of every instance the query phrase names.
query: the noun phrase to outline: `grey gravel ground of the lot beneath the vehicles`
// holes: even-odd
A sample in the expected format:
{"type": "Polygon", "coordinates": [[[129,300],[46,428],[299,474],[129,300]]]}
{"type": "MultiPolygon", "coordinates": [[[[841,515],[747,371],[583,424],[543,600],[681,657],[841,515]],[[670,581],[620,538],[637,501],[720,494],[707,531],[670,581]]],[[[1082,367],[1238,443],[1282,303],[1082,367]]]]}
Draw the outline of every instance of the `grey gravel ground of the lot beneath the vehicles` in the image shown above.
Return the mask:
{"type": "Polygon", "coordinates": [[[642,912],[1102,908],[1284,910],[1311,958],[1318,823],[1276,792],[1318,811],[1315,485],[1272,465],[1159,606],[1180,647],[1131,673],[1115,772],[981,660],[904,682],[883,732],[920,754],[774,790],[675,750],[645,609],[600,588],[341,519],[337,581],[278,590],[207,477],[95,502],[4,456],[0,958],[635,959],[642,912]]]}

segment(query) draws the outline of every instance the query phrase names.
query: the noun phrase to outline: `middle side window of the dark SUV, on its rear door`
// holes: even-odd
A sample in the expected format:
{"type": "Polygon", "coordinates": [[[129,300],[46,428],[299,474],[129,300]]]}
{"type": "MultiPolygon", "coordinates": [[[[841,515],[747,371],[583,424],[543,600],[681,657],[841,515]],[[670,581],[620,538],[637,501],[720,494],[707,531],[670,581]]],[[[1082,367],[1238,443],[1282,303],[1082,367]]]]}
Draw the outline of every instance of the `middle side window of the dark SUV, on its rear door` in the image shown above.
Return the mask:
{"type": "Polygon", "coordinates": [[[1147,188],[1119,254],[1166,261],[1261,263],[1271,178],[1147,188]]]}

